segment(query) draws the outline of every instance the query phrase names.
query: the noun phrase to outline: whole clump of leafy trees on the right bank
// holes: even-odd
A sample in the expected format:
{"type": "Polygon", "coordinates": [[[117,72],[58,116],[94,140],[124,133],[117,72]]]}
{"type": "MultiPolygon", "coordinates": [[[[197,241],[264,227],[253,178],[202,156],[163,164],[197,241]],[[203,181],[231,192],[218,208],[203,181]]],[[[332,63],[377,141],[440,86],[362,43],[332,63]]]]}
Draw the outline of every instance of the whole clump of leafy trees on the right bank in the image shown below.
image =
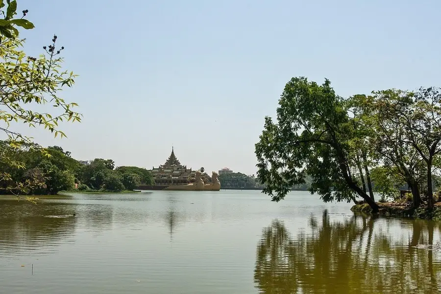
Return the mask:
{"type": "Polygon", "coordinates": [[[341,98],[328,80],[318,85],[293,78],[279,100],[276,120],[265,118],[255,150],[258,178],[273,201],[309,175],[309,191],[324,201],[361,196],[377,211],[374,191],[384,201],[396,198],[406,184],[413,207],[425,200],[433,208],[441,167],[438,88],[341,98]]]}

